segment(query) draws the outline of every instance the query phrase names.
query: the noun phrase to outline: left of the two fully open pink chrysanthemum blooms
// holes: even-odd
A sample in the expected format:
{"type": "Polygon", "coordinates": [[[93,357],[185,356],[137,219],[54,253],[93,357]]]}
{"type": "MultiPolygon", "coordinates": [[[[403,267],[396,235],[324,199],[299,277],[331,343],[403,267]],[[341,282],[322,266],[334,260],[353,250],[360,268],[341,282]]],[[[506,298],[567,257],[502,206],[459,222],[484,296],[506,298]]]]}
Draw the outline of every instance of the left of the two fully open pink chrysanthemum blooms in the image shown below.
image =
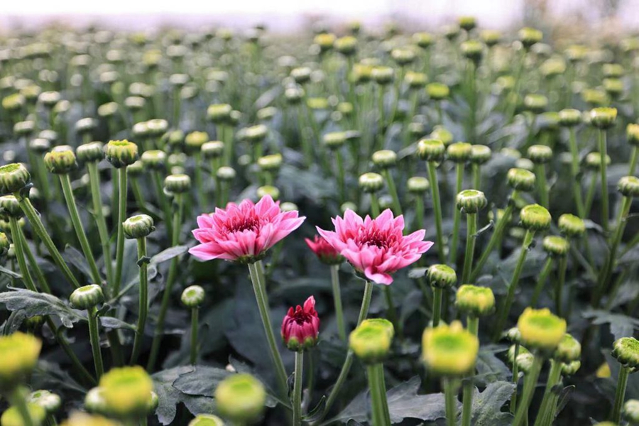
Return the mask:
{"type": "Polygon", "coordinates": [[[214,213],[197,217],[198,228],[193,235],[200,244],[189,253],[202,261],[224,259],[253,263],[299,228],[304,219],[297,217],[296,211],[282,212],[279,202],[274,202],[270,195],[256,204],[251,200],[240,204],[229,202],[226,209],[216,208],[214,213]]]}

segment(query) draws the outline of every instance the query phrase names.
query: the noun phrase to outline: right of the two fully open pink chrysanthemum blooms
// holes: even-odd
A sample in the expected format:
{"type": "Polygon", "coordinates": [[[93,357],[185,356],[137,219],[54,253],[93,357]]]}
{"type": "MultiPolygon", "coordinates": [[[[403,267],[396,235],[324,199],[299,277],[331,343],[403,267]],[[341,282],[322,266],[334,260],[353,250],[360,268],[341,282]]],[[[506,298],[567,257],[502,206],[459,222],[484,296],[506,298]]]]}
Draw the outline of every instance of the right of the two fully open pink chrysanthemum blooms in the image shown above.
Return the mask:
{"type": "Polygon", "coordinates": [[[317,228],[321,236],[339,251],[347,261],[374,283],[393,283],[391,273],[419,260],[432,246],[422,241],[424,229],[404,236],[404,217],[393,217],[390,209],[376,219],[362,219],[352,210],[346,210],[344,219],[333,219],[335,231],[317,228]]]}

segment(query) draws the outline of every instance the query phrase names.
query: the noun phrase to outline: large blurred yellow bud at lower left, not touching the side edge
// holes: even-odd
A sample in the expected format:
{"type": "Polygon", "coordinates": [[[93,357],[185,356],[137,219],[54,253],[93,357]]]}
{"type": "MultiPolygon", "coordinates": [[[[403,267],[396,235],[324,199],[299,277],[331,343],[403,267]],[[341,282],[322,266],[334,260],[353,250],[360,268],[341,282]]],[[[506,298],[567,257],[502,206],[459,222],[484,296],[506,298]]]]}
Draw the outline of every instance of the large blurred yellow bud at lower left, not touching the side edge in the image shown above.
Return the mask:
{"type": "Polygon", "coordinates": [[[153,381],[141,366],[112,368],[100,378],[107,411],[115,417],[139,417],[148,413],[153,381]]]}

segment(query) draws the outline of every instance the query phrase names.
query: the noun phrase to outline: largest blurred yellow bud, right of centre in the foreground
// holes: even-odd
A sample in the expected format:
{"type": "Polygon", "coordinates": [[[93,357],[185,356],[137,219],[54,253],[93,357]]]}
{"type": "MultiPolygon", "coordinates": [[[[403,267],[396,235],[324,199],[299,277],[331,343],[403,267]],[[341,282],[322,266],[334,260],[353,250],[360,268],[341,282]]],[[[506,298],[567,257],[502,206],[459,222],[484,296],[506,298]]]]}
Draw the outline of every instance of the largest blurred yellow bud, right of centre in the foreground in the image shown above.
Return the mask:
{"type": "Polygon", "coordinates": [[[473,370],[479,340],[454,321],[427,328],[422,335],[422,361],[437,376],[461,377],[473,370]]]}

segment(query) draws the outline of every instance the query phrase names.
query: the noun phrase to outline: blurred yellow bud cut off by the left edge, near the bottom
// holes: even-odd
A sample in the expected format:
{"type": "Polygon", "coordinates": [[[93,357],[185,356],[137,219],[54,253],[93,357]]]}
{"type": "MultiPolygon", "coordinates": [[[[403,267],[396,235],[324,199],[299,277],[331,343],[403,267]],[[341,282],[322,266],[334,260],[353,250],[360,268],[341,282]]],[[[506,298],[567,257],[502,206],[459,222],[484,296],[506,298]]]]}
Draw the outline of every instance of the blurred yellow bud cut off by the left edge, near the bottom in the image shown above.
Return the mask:
{"type": "Polygon", "coordinates": [[[15,332],[0,337],[0,389],[10,390],[31,373],[42,342],[31,334],[15,332]]]}

